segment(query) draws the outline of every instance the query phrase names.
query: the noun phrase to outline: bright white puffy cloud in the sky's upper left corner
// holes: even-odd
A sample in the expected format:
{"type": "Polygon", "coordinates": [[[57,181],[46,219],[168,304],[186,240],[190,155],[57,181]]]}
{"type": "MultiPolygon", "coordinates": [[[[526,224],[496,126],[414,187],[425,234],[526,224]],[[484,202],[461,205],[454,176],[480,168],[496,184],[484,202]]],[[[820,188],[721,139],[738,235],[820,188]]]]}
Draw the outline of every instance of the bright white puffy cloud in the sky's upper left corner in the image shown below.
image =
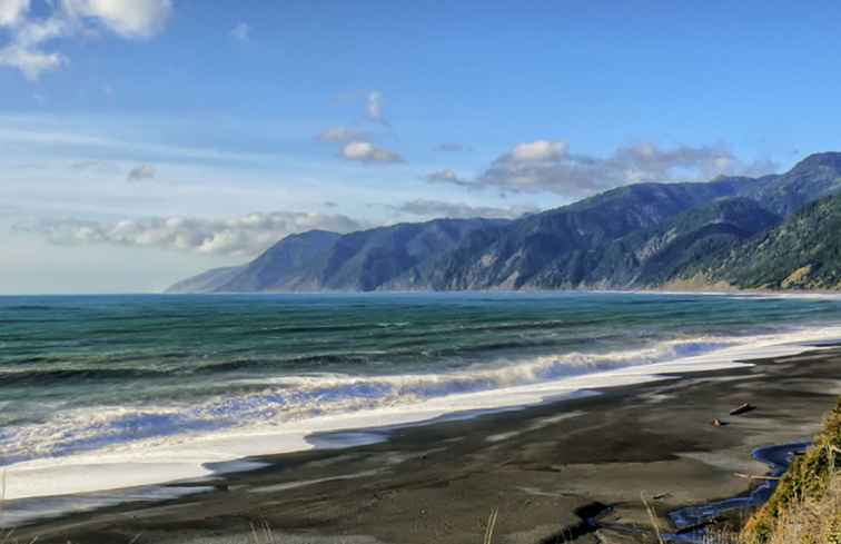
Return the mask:
{"type": "Polygon", "coordinates": [[[29,80],[68,63],[59,51],[47,50],[58,38],[96,33],[105,29],[123,38],[149,38],[169,19],[170,0],[61,0],[50,2],[43,18],[28,17],[29,2],[0,0],[0,27],[10,40],[0,48],[0,66],[20,70],[29,80]]]}

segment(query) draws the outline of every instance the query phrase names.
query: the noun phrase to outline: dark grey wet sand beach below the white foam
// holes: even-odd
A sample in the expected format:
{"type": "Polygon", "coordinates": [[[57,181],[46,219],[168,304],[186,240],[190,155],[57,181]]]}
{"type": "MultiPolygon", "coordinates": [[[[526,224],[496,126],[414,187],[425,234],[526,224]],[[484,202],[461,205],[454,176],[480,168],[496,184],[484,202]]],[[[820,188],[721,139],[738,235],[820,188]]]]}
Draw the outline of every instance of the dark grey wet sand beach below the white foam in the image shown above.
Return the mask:
{"type": "Polygon", "coordinates": [[[602,393],[379,429],[387,439],[372,445],[264,457],[265,468],[215,478],[215,491],[41,521],[13,536],[234,544],[267,542],[271,527],[289,544],[472,543],[498,508],[495,543],[645,542],[641,494],[666,527],[674,508],[748,492],[734,473],[766,472],[751,457],[755,447],[813,435],[841,395],[841,349],[602,393]],[[742,403],[756,409],[728,415],[742,403]],[[726,425],[711,425],[715,417],[726,425]],[[583,521],[596,513],[598,530],[583,521]]]}

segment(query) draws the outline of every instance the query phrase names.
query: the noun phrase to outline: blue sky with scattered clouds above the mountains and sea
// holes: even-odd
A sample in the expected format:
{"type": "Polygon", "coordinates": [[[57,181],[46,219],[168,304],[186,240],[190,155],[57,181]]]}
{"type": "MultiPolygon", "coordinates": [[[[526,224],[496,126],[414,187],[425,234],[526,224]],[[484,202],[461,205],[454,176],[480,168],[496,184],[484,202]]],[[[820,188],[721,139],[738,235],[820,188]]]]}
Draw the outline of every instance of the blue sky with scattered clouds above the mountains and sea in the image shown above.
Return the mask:
{"type": "Polygon", "coordinates": [[[0,294],[841,150],[837,2],[0,0],[0,294]]]}

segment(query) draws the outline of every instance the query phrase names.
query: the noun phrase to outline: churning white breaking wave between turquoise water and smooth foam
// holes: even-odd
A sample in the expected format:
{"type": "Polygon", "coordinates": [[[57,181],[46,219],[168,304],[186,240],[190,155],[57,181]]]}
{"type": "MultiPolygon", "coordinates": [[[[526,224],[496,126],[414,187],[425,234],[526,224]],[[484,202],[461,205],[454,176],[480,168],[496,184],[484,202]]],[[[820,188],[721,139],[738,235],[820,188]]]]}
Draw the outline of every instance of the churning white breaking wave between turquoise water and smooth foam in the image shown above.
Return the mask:
{"type": "Polygon", "coordinates": [[[437,397],[538,384],[565,377],[674,360],[764,337],[704,336],[639,349],[574,352],[501,360],[439,373],[349,376],[308,374],[231,380],[212,395],[166,405],[98,406],[58,411],[43,422],[0,428],[0,465],[188,439],[239,427],[277,427],[293,421],[409,406],[437,397]]]}

